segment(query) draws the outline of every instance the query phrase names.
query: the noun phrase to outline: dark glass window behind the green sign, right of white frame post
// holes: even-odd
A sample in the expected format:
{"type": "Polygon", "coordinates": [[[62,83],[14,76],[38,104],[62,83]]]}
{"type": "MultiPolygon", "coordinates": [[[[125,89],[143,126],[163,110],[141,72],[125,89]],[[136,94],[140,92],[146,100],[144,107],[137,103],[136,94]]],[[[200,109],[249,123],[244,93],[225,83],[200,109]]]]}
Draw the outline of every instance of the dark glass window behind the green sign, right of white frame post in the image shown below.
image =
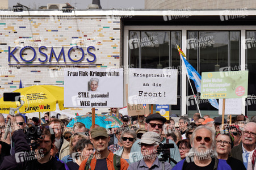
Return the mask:
{"type": "MultiPolygon", "coordinates": [[[[239,31],[188,31],[187,32],[187,60],[198,71],[234,71],[240,70],[240,32],[239,31]]],[[[187,110],[189,116],[198,112],[194,99],[198,101],[202,115],[209,114],[215,117],[218,110],[201,100],[196,91],[194,82],[187,84],[187,110]]]]}

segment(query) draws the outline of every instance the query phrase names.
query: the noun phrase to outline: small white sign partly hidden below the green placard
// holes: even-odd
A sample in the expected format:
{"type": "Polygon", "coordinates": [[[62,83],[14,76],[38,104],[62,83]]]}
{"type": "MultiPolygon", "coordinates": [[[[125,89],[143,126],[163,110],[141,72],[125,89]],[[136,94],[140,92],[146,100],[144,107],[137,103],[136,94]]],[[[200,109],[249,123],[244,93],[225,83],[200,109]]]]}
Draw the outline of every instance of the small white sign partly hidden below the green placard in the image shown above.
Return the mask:
{"type": "MultiPolygon", "coordinates": [[[[219,114],[223,112],[223,99],[219,99],[219,114]]],[[[242,98],[225,100],[225,115],[242,114],[242,98]]]]}

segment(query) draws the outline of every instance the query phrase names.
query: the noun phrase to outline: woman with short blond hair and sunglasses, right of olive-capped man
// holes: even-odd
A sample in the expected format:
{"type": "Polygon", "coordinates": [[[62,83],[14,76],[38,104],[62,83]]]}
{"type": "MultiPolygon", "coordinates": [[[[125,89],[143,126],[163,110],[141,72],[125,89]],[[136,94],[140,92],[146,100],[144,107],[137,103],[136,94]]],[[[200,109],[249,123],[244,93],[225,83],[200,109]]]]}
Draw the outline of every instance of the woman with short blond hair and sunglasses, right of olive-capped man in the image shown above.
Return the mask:
{"type": "Polygon", "coordinates": [[[136,141],[136,133],[133,130],[123,131],[120,137],[120,142],[123,144],[114,154],[121,156],[129,163],[129,154],[133,143],[136,141]]]}

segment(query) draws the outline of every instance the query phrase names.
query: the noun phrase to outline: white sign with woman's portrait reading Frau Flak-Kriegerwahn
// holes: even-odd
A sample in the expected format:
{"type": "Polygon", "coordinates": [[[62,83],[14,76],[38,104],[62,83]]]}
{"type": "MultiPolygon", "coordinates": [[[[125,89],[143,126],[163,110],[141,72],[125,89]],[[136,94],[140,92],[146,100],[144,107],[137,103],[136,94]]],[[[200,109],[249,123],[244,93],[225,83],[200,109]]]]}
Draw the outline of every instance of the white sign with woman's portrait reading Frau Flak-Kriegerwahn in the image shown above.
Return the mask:
{"type": "Polygon", "coordinates": [[[64,107],[123,107],[123,69],[65,69],[64,107]]]}

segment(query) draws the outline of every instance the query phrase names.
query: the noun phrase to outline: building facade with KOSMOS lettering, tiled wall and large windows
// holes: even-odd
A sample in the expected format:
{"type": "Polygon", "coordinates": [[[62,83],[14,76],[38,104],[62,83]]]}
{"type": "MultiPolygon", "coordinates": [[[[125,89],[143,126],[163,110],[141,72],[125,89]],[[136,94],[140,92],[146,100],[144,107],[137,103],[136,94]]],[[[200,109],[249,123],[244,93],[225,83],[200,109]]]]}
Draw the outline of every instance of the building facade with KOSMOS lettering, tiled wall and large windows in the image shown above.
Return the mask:
{"type": "MultiPolygon", "coordinates": [[[[1,15],[7,14],[10,12],[2,11],[1,15]]],[[[191,116],[198,108],[182,69],[179,45],[200,74],[249,70],[249,97],[243,99],[242,113],[250,117],[256,111],[255,16],[255,10],[12,12],[0,23],[0,94],[18,88],[20,79],[25,87],[63,86],[63,71],[70,67],[178,69],[178,103],[170,106],[170,112],[191,116]],[[73,46],[80,46],[84,55],[73,46]]],[[[127,83],[128,76],[124,75],[124,84],[127,83]]],[[[196,92],[194,83],[192,88],[196,92]]],[[[199,93],[195,95],[201,114],[217,116],[217,109],[207,100],[200,100],[199,93]]],[[[124,99],[124,106],[125,103],[124,99]]],[[[73,111],[86,113],[90,109],[73,111]]]]}

